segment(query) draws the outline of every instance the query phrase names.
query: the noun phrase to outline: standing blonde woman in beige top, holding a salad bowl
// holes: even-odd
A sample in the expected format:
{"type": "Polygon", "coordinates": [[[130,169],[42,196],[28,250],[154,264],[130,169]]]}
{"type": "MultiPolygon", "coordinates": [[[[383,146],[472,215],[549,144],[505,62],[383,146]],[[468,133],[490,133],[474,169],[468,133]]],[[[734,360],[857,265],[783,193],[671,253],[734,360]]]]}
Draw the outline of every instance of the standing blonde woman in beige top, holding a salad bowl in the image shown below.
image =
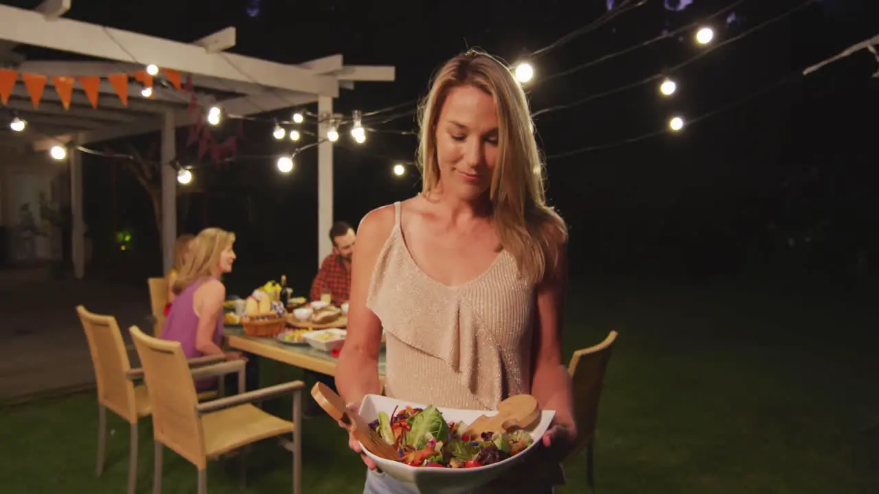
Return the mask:
{"type": "MultiPolygon", "coordinates": [[[[356,410],[381,394],[382,331],[387,396],[496,410],[530,394],[556,410],[542,454],[480,491],[551,492],[576,436],[561,354],[567,228],[544,199],[525,93],[504,64],[470,50],[439,70],[420,124],[422,193],[360,222],[340,395],[356,410]]],[[[349,445],[369,468],[366,494],[410,492],[349,445]]]]}

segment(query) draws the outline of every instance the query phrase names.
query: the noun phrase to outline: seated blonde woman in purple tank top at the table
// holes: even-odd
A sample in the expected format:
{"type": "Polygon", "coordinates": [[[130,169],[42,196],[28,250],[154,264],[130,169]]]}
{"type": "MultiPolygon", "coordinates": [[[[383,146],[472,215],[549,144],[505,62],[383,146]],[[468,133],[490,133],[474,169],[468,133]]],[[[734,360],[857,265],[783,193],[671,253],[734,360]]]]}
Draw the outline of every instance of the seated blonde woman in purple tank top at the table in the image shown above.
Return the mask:
{"type": "MultiPolygon", "coordinates": [[[[165,319],[162,339],[178,341],[187,359],[226,353],[222,345],[222,304],[226,287],[220,277],[232,271],[235,234],[222,229],[203,229],[192,242],[190,255],[172,287],[176,298],[165,319]]],[[[200,391],[214,389],[216,378],[196,381],[200,391]]]]}

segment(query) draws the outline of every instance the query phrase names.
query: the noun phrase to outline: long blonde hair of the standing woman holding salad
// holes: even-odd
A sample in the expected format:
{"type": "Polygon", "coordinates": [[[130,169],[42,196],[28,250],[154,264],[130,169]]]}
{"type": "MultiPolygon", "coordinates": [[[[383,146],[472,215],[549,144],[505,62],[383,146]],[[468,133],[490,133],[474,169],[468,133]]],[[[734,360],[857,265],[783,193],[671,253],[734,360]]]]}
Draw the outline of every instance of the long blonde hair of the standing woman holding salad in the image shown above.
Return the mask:
{"type": "Polygon", "coordinates": [[[491,178],[492,220],[503,248],[512,254],[521,276],[544,279],[557,260],[558,239],[567,239],[561,216],[547,205],[544,165],[534,140],[525,91],[504,63],[490,54],[469,50],[446,62],[433,77],[431,90],[418,109],[418,166],[422,194],[439,185],[437,122],[448,92],[470,85],[484,91],[498,108],[498,164],[491,178]]]}

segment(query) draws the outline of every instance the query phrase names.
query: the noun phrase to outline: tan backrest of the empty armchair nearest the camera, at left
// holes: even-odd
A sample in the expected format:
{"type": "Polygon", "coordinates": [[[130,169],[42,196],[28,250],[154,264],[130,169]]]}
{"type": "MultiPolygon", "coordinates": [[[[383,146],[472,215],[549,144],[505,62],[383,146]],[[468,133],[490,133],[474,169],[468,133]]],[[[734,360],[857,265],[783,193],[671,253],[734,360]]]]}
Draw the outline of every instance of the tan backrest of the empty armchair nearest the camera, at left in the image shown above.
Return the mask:
{"type": "Polygon", "coordinates": [[[199,469],[207,468],[204,430],[195,410],[198,398],[183,348],[177,341],[150,337],[132,326],[153,414],[153,439],[199,469]]]}

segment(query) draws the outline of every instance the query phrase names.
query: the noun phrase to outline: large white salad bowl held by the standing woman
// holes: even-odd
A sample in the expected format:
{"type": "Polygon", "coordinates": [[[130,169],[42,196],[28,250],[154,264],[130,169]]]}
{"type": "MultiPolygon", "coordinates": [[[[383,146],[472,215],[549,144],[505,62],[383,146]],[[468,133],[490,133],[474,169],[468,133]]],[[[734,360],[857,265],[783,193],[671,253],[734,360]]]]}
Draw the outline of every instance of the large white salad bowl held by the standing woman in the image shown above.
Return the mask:
{"type": "MultiPolygon", "coordinates": [[[[403,400],[396,400],[387,396],[367,395],[360,403],[360,415],[367,422],[372,422],[379,416],[380,411],[384,411],[388,415],[394,412],[397,407],[403,408],[406,405],[417,408],[426,408],[426,403],[411,403],[403,400]]],[[[439,407],[438,407],[439,408],[439,407]]],[[[472,423],[481,415],[490,415],[491,412],[485,410],[458,410],[452,408],[439,408],[443,418],[447,422],[466,422],[472,423]]],[[[434,467],[410,467],[400,461],[385,460],[379,458],[367,451],[366,452],[375,465],[381,469],[384,474],[393,477],[398,482],[405,484],[410,489],[421,494],[462,494],[476,490],[486,483],[490,483],[499,476],[503,475],[507,470],[515,467],[519,462],[524,460],[534,447],[540,443],[543,432],[549,428],[549,424],[556,416],[553,410],[542,410],[541,420],[531,431],[531,437],[534,443],[511,458],[504,461],[498,461],[484,467],[476,467],[472,469],[447,469],[434,467]]],[[[363,446],[362,444],[360,445],[363,446]]]]}

